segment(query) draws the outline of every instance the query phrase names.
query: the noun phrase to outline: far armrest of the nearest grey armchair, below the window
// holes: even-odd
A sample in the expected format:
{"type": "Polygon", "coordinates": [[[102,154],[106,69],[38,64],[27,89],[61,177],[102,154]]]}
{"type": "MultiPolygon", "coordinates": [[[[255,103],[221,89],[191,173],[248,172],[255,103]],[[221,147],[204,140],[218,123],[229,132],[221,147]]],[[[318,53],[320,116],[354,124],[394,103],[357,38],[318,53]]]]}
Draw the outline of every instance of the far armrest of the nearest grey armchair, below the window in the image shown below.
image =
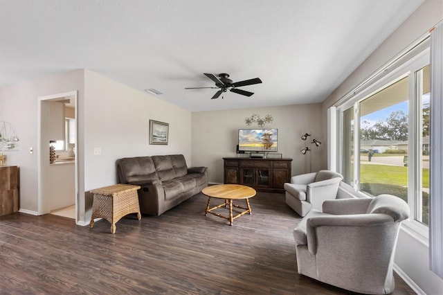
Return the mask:
{"type": "Polygon", "coordinates": [[[333,215],[365,214],[372,198],[329,199],[323,203],[323,212],[333,215]]]}

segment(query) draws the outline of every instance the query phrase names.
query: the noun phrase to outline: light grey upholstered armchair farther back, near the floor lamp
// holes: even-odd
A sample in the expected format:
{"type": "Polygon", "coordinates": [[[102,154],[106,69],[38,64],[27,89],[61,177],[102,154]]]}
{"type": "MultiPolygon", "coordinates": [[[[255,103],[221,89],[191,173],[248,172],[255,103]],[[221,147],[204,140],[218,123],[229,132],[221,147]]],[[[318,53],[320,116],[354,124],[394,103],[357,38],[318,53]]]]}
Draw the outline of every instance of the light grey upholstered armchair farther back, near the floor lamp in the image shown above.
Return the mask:
{"type": "Polygon", "coordinates": [[[321,211],[325,200],[336,198],[341,179],[341,174],[329,170],[294,176],[284,184],[286,204],[300,216],[312,208],[321,211]]]}

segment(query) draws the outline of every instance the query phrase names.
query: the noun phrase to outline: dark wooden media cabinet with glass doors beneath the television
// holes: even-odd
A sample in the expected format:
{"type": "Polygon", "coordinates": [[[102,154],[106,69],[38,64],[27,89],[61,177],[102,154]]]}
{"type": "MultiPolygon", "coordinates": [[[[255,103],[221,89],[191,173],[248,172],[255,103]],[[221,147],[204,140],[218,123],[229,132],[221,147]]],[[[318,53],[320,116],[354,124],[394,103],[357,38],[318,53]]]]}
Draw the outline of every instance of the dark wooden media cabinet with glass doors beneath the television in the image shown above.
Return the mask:
{"type": "Polygon", "coordinates": [[[224,183],[283,193],[291,181],[292,159],[223,158],[224,183]]]}

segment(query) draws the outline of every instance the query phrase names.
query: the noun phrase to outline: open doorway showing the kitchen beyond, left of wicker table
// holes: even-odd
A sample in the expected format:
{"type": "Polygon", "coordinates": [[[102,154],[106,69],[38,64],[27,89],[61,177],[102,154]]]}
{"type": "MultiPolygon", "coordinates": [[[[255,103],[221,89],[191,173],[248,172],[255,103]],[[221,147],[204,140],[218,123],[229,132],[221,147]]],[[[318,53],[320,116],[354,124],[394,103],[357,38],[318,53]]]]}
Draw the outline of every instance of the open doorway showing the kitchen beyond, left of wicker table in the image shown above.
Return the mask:
{"type": "MultiPolygon", "coordinates": [[[[75,157],[77,132],[70,134],[66,128],[77,128],[78,123],[78,91],[57,93],[38,98],[38,215],[44,215],[66,208],[74,210],[69,217],[78,222],[78,160],[75,157]],[[55,106],[55,107],[54,107],[55,106]],[[62,109],[62,112],[58,112],[62,109]],[[65,111],[73,115],[66,120],[65,111]],[[55,135],[57,134],[57,135],[55,135]],[[60,135],[62,134],[62,135],[60,135]],[[57,158],[50,157],[50,144],[60,145],[55,153],[57,158]],[[73,149],[74,147],[74,149],[73,149]],[[72,150],[73,149],[73,150],[72,150]],[[61,156],[61,157],[60,157],[61,156]],[[60,157],[60,158],[59,158],[60,157]]],[[[64,213],[63,213],[64,211],[64,213]]],[[[59,215],[59,214],[57,214],[59,215]]]]}

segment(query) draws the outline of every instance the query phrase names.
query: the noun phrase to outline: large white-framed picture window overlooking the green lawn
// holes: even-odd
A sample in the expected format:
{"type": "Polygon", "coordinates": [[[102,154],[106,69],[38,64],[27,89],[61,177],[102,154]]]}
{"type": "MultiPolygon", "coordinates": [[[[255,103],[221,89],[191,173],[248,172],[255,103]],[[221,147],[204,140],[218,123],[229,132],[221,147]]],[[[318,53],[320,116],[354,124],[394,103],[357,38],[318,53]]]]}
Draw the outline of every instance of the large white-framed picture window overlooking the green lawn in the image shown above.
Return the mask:
{"type": "Polygon", "coordinates": [[[422,50],[337,109],[343,181],[371,197],[390,194],[428,225],[429,51],[422,50]]]}

